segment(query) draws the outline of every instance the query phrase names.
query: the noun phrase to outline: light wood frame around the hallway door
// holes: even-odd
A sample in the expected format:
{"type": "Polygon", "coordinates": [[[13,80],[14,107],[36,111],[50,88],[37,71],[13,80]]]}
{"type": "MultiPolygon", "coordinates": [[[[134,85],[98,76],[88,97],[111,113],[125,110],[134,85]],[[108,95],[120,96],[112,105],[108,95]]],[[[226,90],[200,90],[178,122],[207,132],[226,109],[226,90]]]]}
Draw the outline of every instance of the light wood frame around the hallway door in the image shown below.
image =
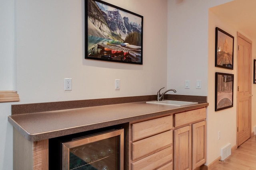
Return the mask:
{"type": "MultiPolygon", "coordinates": [[[[238,37],[244,39],[245,41],[247,41],[248,43],[251,44],[251,51],[250,51],[250,65],[252,68],[252,41],[250,39],[248,39],[247,37],[245,37],[244,35],[242,35],[241,33],[237,32],[237,38],[236,38],[236,61],[238,61],[238,37]]],[[[236,66],[237,68],[237,66],[236,66]]],[[[252,69],[250,70],[252,73],[252,69]]],[[[252,75],[252,74],[251,74],[252,75]]],[[[236,69],[236,81],[238,80],[238,69],[236,69]]],[[[251,77],[250,77],[250,80],[251,77]]],[[[250,82],[251,84],[252,82],[250,82]]],[[[238,84],[237,84],[238,86],[238,84]]],[[[250,92],[252,92],[252,85],[250,86],[250,92]]],[[[238,90],[236,90],[236,96],[238,96],[238,90]]],[[[237,98],[237,97],[236,97],[237,98]]],[[[239,125],[239,115],[238,115],[238,100],[236,100],[236,148],[239,147],[238,145],[238,125],[239,125]]],[[[251,100],[251,107],[252,107],[252,100],[251,100]]],[[[252,108],[250,108],[250,137],[252,137],[252,108]]]]}

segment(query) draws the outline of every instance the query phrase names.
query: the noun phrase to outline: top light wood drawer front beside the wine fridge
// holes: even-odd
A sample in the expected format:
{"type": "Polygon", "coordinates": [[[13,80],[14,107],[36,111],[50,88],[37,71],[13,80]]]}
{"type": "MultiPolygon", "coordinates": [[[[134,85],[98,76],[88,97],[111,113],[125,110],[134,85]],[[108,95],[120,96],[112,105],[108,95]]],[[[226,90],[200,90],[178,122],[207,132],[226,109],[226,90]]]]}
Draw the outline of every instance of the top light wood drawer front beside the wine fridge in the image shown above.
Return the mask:
{"type": "Polygon", "coordinates": [[[132,140],[136,141],[172,129],[172,115],[132,124],[132,140]]]}

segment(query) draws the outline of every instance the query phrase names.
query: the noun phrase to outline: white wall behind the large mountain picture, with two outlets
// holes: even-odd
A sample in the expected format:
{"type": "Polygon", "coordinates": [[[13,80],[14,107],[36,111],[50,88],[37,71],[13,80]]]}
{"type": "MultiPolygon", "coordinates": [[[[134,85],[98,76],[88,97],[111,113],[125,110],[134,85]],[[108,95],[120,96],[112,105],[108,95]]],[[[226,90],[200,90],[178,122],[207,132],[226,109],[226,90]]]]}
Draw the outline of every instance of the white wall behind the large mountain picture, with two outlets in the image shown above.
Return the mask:
{"type": "Polygon", "coordinates": [[[1,54],[1,78],[17,72],[7,86],[17,88],[20,102],[0,104],[0,170],[12,169],[11,104],[152,95],[166,86],[167,0],[106,0],[144,16],[143,65],[84,59],[84,0],[5,2],[1,7],[10,16],[1,23],[11,24],[0,30],[10,31],[6,39],[15,38],[6,50],[14,54],[1,54]],[[64,91],[64,78],[72,78],[72,91],[64,91]]]}

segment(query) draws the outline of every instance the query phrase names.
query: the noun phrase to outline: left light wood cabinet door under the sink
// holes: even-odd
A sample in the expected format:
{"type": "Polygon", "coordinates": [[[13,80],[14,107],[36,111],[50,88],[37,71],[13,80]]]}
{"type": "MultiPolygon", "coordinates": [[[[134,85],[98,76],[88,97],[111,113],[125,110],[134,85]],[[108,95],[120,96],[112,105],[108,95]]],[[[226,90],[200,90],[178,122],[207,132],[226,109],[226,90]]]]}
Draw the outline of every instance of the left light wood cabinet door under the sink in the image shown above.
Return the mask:
{"type": "Polygon", "coordinates": [[[192,168],[191,125],[174,130],[174,170],[192,168]]]}

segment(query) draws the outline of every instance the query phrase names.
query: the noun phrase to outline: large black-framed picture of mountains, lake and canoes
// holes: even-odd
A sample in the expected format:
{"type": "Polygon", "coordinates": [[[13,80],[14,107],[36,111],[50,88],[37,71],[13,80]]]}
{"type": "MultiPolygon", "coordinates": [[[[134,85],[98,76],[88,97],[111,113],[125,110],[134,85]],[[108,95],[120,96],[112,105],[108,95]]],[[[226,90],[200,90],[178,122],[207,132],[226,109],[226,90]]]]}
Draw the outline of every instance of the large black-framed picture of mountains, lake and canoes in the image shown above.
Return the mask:
{"type": "Polygon", "coordinates": [[[142,64],[143,16],[86,0],[85,23],[85,59],[142,64]]]}

